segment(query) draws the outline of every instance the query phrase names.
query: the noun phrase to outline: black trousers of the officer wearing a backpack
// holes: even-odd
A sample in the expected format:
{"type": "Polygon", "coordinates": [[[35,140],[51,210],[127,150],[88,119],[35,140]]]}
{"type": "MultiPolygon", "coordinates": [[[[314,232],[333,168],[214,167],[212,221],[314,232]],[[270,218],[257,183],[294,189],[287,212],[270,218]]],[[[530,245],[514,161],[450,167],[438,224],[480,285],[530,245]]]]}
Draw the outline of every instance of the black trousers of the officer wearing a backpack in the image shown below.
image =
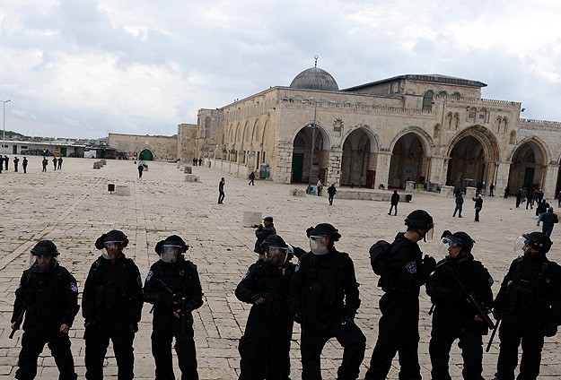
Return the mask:
{"type": "Polygon", "coordinates": [[[386,293],[380,298],[381,318],[365,379],[385,379],[399,354],[399,378],[421,380],[419,365],[419,299],[415,294],[386,293]]]}

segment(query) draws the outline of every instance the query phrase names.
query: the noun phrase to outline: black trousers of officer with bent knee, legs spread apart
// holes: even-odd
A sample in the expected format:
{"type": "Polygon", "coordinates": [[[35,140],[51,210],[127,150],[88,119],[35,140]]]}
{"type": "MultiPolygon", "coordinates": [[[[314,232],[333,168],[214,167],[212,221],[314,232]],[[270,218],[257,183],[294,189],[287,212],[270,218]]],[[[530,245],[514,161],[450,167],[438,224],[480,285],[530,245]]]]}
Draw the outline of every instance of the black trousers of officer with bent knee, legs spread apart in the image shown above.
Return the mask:
{"type": "MultiPolygon", "coordinates": [[[[338,322],[338,321],[337,321],[338,322]]],[[[318,330],[310,322],[302,325],[300,350],[302,380],[320,380],[320,355],[325,343],[335,338],[343,346],[343,361],[337,369],[337,379],[355,380],[366,350],[366,337],[356,324],[332,324],[327,330],[318,330]]]]}

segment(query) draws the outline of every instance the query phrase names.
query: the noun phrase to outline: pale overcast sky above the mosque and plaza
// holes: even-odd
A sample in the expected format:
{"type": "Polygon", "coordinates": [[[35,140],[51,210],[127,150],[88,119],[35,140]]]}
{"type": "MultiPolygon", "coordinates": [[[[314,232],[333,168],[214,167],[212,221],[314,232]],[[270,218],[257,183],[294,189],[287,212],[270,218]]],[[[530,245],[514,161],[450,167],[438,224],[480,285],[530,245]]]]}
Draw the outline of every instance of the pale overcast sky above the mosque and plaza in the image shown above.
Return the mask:
{"type": "Polygon", "coordinates": [[[5,128],[171,135],[199,108],[288,86],[316,54],[340,89],[440,73],[561,121],[559,16],[558,0],[3,1],[5,128]]]}

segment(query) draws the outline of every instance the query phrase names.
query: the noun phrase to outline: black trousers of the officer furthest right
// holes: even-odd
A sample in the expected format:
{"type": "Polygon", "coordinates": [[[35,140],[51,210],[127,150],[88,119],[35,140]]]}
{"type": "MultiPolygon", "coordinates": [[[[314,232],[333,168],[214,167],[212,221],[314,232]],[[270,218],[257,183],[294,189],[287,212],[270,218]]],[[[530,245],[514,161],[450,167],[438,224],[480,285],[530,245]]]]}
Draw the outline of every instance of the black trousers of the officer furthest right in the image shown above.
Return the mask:
{"type": "Polygon", "coordinates": [[[501,345],[495,376],[501,380],[514,380],[518,365],[518,347],[522,343],[519,380],[534,380],[539,375],[544,326],[527,322],[504,323],[499,328],[501,345]]]}

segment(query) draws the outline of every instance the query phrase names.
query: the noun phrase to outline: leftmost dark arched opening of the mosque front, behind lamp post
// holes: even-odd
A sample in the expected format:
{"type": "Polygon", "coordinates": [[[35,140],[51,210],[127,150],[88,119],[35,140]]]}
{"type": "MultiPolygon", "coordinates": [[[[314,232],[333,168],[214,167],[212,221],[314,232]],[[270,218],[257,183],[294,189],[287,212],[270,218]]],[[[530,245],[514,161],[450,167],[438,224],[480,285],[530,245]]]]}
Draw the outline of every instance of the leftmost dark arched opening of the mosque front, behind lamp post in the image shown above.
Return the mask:
{"type": "Polygon", "coordinates": [[[315,128],[312,128],[311,125],[305,125],[298,131],[293,142],[291,183],[308,183],[310,176],[312,185],[318,182],[318,178],[325,181],[329,159],[329,150],[324,148],[325,142],[324,132],[319,125],[316,125],[315,128]],[[314,140],[314,148],[310,168],[312,139],[314,140]]]}

